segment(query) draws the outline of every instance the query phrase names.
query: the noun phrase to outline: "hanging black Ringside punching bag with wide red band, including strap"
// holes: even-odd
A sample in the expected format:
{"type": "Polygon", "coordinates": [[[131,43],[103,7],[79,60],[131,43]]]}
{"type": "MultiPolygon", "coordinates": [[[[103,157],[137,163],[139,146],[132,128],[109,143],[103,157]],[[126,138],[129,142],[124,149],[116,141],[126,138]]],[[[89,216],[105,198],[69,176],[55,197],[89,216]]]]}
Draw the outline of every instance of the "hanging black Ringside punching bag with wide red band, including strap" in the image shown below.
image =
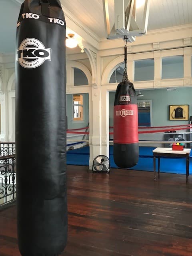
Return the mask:
{"type": "MultiPolygon", "coordinates": [[[[125,64],[126,56],[125,47],[125,64]]],[[[117,86],[114,102],[114,162],[120,168],[130,168],[137,164],[138,156],[137,99],[125,65],[123,81],[117,86]]]]}

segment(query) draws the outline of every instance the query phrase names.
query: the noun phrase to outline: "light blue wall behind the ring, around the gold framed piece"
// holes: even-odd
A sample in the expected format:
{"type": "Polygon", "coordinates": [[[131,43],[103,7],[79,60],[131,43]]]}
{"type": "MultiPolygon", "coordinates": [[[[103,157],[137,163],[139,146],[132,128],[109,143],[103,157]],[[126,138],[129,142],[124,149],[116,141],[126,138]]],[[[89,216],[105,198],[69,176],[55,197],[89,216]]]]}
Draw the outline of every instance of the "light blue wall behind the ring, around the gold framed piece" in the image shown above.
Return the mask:
{"type": "MultiPolygon", "coordinates": [[[[143,90],[144,97],[139,100],[152,100],[153,126],[188,124],[189,121],[169,120],[169,105],[190,105],[192,116],[192,88],[177,88],[176,91],[165,89],[143,90]]],[[[109,122],[113,126],[113,105],[115,92],[109,92],[109,122]]]]}

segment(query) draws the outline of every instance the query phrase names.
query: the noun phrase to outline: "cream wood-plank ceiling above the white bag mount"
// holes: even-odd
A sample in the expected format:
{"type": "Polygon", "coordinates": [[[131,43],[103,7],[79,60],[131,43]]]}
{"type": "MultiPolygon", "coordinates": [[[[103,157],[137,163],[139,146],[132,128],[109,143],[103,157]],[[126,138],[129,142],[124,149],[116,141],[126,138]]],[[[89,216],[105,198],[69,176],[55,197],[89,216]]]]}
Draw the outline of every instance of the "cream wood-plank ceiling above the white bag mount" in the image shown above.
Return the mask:
{"type": "MultiPolygon", "coordinates": [[[[100,38],[106,37],[102,0],[60,0],[74,16],[100,38]]],[[[114,0],[108,0],[111,24],[114,0]]],[[[192,0],[150,0],[148,30],[192,23],[192,0]]]]}

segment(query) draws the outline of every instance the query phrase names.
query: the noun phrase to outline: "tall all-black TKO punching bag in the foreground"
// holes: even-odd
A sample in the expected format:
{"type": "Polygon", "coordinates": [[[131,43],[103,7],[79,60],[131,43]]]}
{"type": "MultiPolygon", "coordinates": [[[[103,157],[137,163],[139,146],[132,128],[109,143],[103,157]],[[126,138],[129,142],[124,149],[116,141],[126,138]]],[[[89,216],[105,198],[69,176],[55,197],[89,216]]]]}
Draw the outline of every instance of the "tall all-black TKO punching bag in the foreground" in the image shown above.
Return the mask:
{"type": "Polygon", "coordinates": [[[59,0],[25,0],[16,33],[16,186],[22,256],[67,241],[66,26],[59,0]]]}

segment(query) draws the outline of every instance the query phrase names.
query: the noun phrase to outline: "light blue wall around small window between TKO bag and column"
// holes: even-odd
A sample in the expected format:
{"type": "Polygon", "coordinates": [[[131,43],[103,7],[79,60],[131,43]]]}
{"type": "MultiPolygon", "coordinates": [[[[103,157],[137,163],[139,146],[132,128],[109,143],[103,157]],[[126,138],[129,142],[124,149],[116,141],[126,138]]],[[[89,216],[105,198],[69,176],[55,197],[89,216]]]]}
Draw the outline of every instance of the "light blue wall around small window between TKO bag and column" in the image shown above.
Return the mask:
{"type": "Polygon", "coordinates": [[[83,128],[88,125],[89,122],[89,94],[84,93],[83,95],[83,121],[72,121],[73,117],[73,94],[67,94],[66,102],[67,102],[67,123],[68,129],[76,129],[83,128]]]}

